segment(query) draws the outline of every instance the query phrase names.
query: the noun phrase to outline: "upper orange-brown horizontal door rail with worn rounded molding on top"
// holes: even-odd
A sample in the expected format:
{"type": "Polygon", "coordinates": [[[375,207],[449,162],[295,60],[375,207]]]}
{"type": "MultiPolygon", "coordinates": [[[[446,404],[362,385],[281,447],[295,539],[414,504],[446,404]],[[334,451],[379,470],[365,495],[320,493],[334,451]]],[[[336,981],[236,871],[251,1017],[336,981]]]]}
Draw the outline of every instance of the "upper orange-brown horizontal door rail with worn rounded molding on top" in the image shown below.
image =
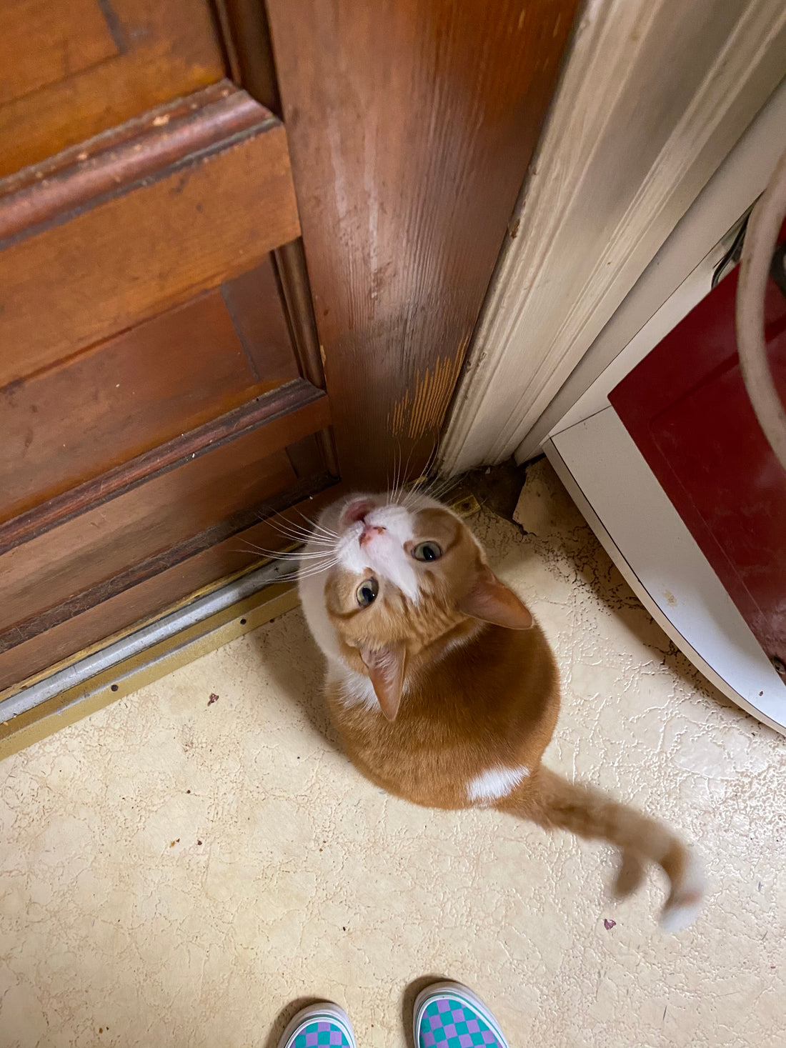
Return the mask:
{"type": "MultiPolygon", "coordinates": [[[[70,192],[52,192],[43,214],[24,209],[28,218],[38,212],[34,221],[0,240],[0,385],[244,272],[300,234],[283,127],[244,92],[226,90],[217,103],[193,100],[200,119],[184,134],[173,119],[88,161],[101,169],[97,195],[93,171],[88,179],[77,158],[52,179],[70,182],[70,192]],[[138,158],[168,129],[179,156],[140,176],[138,158]],[[104,190],[107,177],[114,189],[104,190]]],[[[9,227],[34,191],[5,195],[9,227]]]]}

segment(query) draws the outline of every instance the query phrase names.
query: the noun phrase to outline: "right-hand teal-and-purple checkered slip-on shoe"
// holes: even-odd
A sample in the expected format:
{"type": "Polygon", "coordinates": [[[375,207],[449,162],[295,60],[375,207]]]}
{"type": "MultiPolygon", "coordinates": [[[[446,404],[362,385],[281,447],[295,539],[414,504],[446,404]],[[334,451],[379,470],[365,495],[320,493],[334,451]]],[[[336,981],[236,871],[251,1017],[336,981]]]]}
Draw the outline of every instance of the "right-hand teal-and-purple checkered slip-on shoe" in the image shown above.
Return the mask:
{"type": "Polygon", "coordinates": [[[415,1001],[416,1048],[508,1048],[497,1020],[483,1002],[460,983],[435,983],[415,1001]]]}

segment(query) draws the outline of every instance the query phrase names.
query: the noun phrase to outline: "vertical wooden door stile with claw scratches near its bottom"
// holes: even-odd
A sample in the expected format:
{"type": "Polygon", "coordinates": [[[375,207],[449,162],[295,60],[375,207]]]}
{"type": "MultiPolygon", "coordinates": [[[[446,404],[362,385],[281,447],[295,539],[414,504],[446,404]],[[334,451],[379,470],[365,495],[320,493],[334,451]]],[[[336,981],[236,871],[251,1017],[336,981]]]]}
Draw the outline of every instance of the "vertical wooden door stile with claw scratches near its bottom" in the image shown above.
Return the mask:
{"type": "Polygon", "coordinates": [[[342,475],[434,449],[576,0],[268,0],[342,475]]]}

